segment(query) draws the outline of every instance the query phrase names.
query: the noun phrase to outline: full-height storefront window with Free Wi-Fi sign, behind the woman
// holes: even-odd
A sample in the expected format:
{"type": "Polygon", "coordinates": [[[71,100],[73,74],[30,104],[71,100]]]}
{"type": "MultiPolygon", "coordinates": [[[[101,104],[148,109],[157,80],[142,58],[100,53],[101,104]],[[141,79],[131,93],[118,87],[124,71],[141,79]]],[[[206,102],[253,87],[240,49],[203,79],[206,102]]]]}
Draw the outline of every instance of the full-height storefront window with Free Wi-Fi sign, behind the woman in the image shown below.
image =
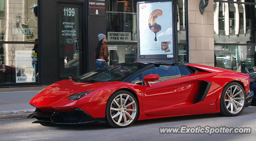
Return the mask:
{"type": "Polygon", "coordinates": [[[107,1],[106,36],[110,65],[137,60],[136,2],[136,0],[107,1]]]}

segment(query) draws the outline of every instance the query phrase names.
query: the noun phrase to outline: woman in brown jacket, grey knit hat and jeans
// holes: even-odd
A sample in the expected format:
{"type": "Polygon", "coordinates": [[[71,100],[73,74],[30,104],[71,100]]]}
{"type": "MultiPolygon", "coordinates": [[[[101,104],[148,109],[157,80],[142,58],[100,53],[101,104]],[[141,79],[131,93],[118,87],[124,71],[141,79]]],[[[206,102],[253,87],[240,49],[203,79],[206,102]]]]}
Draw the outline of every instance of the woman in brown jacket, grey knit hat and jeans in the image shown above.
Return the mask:
{"type": "Polygon", "coordinates": [[[107,41],[106,35],[98,34],[99,43],[95,50],[96,68],[103,68],[108,66],[108,46],[105,44],[107,41]]]}

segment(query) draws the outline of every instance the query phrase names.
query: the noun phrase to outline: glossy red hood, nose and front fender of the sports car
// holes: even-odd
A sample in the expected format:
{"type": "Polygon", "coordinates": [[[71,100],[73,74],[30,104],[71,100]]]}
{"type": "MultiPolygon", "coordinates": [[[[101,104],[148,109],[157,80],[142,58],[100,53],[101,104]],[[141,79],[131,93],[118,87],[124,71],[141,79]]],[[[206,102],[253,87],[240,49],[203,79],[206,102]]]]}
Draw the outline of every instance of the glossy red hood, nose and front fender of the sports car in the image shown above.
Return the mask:
{"type": "MultiPolygon", "coordinates": [[[[130,90],[135,93],[139,106],[142,107],[140,90],[143,85],[126,82],[82,83],[72,79],[58,81],[37,94],[30,104],[43,111],[70,111],[81,108],[94,118],[105,117],[106,103],[112,93],[118,90],[130,90]],[[75,93],[92,91],[79,100],[69,100],[75,93]],[[43,100],[42,100],[43,99],[43,100]]],[[[142,108],[140,109],[142,112],[142,108]]]]}

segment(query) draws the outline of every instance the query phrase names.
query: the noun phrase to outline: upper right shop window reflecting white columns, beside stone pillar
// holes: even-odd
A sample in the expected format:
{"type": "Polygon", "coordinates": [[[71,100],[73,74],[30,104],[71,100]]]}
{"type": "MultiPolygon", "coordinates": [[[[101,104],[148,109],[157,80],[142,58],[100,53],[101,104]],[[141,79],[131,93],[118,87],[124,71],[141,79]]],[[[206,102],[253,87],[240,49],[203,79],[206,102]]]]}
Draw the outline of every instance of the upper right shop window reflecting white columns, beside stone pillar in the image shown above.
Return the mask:
{"type": "Polygon", "coordinates": [[[255,10],[254,5],[214,2],[215,43],[256,43],[255,10]]]}

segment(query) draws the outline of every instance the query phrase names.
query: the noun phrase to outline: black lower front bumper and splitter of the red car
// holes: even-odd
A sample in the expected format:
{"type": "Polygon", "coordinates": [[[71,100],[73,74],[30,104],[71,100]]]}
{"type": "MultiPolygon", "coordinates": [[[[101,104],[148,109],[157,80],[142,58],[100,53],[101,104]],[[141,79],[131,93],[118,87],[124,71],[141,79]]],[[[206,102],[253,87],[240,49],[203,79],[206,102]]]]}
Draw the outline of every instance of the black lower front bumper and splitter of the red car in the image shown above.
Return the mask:
{"type": "Polygon", "coordinates": [[[86,124],[86,123],[106,123],[104,118],[94,118],[80,108],[73,111],[42,111],[36,109],[27,118],[36,118],[38,121],[46,121],[56,124],[86,124]]]}

